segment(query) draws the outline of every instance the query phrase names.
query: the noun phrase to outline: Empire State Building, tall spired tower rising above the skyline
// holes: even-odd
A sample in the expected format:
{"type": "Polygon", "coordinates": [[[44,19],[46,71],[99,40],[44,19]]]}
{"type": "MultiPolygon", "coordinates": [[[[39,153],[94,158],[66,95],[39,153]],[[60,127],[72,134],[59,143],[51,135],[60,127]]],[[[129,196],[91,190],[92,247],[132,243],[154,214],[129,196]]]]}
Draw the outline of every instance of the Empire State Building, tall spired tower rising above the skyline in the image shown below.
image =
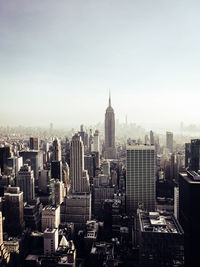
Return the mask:
{"type": "Polygon", "coordinates": [[[105,159],[115,159],[115,113],[111,107],[111,97],[109,95],[109,105],[105,114],[105,159]]]}

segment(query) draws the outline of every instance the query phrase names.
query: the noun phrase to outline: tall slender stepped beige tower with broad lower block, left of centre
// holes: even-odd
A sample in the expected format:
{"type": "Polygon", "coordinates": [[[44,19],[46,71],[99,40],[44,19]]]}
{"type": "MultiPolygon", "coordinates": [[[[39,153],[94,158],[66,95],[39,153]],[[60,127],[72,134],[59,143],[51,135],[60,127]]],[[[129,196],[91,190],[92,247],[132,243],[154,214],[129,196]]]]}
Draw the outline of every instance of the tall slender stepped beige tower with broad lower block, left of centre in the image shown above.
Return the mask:
{"type": "Polygon", "coordinates": [[[84,146],[79,134],[72,137],[70,149],[70,194],[61,204],[62,222],[73,222],[82,229],[91,219],[91,194],[89,175],[84,170],[84,146]]]}

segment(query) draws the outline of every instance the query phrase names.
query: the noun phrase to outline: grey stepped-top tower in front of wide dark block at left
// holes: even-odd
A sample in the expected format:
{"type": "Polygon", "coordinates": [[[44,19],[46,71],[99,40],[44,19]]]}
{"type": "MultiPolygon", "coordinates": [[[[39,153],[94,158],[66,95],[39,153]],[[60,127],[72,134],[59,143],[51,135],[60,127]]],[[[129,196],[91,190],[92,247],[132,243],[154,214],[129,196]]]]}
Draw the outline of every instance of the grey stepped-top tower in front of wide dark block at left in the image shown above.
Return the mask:
{"type": "Polygon", "coordinates": [[[33,171],[28,164],[24,164],[18,172],[16,185],[24,193],[24,202],[31,201],[35,197],[35,179],[33,171]]]}

